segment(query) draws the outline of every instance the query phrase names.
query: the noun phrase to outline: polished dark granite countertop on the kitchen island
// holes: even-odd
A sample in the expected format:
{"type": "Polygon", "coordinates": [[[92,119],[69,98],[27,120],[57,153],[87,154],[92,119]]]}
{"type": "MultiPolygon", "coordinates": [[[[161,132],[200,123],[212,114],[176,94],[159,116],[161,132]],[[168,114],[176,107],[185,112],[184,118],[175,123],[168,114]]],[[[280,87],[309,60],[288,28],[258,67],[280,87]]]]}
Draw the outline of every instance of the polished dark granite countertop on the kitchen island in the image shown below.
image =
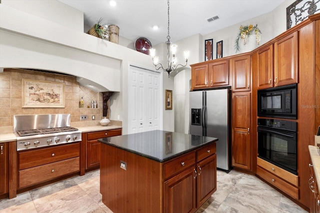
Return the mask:
{"type": "Polygon", "coordinates": [[[98,139],[101,143],[157,162],[165,162],[217,140],[217,138],[161,130],[98,139]]]}

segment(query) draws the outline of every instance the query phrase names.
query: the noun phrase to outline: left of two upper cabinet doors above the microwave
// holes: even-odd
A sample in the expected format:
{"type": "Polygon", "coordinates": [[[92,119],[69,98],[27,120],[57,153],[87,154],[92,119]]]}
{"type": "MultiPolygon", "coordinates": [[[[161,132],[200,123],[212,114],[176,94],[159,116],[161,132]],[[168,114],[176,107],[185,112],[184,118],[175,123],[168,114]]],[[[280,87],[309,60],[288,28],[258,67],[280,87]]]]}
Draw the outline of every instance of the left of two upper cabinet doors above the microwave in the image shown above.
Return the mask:
{"type": "Polygon", "coordinates": [[[259,50],[257,54],[257,89],[273,87],[273,44],[259,50]]]}

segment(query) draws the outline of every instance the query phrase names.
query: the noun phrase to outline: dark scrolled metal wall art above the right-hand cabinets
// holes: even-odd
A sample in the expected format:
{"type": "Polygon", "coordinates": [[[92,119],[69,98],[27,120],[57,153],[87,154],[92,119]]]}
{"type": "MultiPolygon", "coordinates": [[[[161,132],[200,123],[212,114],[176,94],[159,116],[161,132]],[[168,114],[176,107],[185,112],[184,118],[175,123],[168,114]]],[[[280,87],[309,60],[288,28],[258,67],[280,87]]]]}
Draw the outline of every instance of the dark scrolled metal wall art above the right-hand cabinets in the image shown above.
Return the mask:
{"type": "Polygon", "coordinates": [[[296,0],[286,7],[286,29],[320,11],[320,0],[296,0]]]}

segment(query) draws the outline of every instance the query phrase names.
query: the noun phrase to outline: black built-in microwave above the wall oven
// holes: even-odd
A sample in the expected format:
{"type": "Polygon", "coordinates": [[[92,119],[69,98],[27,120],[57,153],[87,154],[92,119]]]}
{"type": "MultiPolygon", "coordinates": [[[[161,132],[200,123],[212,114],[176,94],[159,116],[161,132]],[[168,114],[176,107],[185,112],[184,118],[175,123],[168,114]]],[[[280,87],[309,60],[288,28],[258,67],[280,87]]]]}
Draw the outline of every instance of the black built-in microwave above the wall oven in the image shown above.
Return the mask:
{"type": "Polygon", "coordinates": [[[297,119],[297,84],[257,91],[257,115],[272,118],[297,119]]]}

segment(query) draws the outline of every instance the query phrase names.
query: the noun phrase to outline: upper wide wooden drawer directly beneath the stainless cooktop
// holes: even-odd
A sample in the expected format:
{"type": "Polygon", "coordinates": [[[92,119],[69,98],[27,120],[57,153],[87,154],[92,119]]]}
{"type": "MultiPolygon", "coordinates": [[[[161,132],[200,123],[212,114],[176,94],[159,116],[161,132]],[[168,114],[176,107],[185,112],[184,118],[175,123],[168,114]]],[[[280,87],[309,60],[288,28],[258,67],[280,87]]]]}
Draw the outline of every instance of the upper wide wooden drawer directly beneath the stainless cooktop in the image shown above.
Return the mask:
{"type": "Polygon", "coordinates": [[[18,170],[79,157],[80,143],[52,146],[18,153],[18,170]]]}

